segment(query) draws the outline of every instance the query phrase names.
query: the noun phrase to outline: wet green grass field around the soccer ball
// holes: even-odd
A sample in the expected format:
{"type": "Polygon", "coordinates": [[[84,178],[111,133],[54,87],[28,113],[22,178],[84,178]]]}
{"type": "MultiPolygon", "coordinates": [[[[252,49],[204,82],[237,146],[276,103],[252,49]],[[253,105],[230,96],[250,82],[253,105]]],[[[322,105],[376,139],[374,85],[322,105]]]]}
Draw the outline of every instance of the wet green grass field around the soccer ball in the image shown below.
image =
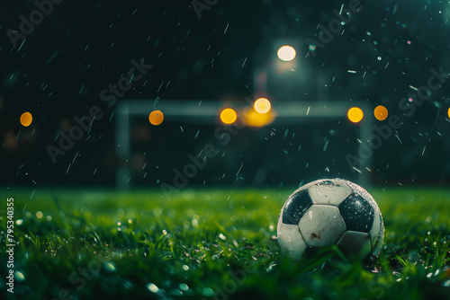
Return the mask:
{"type": "Polygon", "coordinates": [[[285,259],[273,238],[292,191],[3,190],[18,245],[13,295],[2,237],[0,298],[450,299],[450,190],[370,190],[386,228],[372,269],[336,249],[285,259]]]}

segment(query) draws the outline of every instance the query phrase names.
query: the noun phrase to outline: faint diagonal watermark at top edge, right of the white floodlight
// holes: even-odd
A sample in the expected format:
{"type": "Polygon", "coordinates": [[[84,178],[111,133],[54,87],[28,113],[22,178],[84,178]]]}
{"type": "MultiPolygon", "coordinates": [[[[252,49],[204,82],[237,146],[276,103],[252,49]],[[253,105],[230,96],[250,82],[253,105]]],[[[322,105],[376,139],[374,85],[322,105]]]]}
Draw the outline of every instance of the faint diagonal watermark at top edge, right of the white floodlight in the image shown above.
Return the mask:
{"type": "Polygon", "coordinates": [[[360,13],[364,7],[360,4],[359,0],[350,0],[347,6],[348,8],[344,8],[344,4],[342,4],[340,11],[336,9],[333,10],[336,18],[329,21],[328,28],[325,27],[325,25],[323,25],[322,23],[319,24],[319,40],[314,40],[311,38],[305,40],[305,43],[308,46],[308,49],[310,49],[311,55],[313,57],[317,55],[316,50],[318,47],[320,49],[325,48],[325,45],[333,40],[335,34],[341,32],[342,27],[344,25],[347,25],[348,22],[352,21],[352,13],[360,13]]]}

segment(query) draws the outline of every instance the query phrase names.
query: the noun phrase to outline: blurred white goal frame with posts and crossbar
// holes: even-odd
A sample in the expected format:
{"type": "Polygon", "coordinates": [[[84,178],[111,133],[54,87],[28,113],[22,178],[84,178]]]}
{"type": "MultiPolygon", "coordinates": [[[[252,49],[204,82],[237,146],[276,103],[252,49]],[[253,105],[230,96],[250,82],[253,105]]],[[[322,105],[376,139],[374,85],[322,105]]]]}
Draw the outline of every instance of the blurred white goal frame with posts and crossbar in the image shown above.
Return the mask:
{"type": "MultiPolygon", "coordinates": [[[[224,109],[224,101],[180,101],[165,100],[157,103],[157,110],[164,113],[164,122],[190,123],[197,125],[214,125],[220,121],[220,111],[224,109]]],[[[363,101],[275,101],[272,110],[276,113],[273,125],[289,126],[323,122],[323,120],[346,120],[347,110],[350,106],[357,105],[365,111],[371,111],[363,101]]],[[[244,111],[249,104],[246,101],[232,102],[235,111],[244,111]]],[[[115,135],[116,156],[119,166],[116,170],[116,186],[128,189],[130,186],[131,172],[127,165],[130,160],[130,119],[134,116],[147,118],[148,114],[155,110],[152,100],[124,100],[116,106],[115,135]]],[[[374,114],[365,114],[365,119],[359,126],[359,141],[363,143],[370,139],[374,123],[374,114]]],[[[345,157],[342,157],[345,159],[345,157]]],[[[359,172],[358,183],[368,187],[370,185],[370,170],[372,158],[368,157],[363,165],[366,170],[359,172]]]]}

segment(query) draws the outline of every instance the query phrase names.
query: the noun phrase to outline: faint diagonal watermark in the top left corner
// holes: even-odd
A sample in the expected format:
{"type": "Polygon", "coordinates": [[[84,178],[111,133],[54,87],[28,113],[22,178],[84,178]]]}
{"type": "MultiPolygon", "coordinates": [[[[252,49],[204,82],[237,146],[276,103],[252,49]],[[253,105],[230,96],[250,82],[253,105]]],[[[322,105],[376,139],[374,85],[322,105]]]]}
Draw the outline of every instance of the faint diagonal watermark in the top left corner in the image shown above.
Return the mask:
{"type": "Polygon", "coordinates": [[[8,29],[6,34],[8,35],[9,40],[13,44],[14,48],[19,46],[18,41],[23,41],[26,39],[26,36],[31,34],[34,31],[35,26],[38,26],[41,22],[44,21],[44,17],[49,16],[50,13],[53,12],[54,4],[61,4],[64,0],[36,0],[33,4],[37,7],[37,9],[33,10],[28,19],[21,14],[19,19],[21,23],[19,25],[19,30],[8,29]]]}

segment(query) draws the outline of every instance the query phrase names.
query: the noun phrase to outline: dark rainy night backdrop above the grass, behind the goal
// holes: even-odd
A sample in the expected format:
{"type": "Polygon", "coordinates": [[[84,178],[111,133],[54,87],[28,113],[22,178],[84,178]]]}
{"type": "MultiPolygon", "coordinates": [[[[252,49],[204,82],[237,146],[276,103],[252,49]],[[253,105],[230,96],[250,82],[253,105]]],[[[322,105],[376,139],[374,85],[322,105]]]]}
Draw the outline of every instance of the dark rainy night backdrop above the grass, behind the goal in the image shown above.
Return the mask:
{"type": "MultiPolygon", "coordinates": [[[[348,2],[344,4],[347,7],[348,2]]],[[[317,100],[320,75],[319,85],[331,101],[349,105],[367,101],[373,108],[383,104],[390,114],[401,116],[404,125],[399,138],[391,137],[375,152],[373,181],[449,183],[448,83],[410,118],[402,115],[398,102],[414,92],[410,85],[427,84],[429,68],[442,66],[450,73],[450,5],[419,0],[361,4],[363,9],[344,26],[344,34],[311,57],[304,40],[317,40],[319,23],[327,26],[341,3],[219,0],[199,20],[190,1],[65,0],[54,4],[53,12],[18,50],[6,31],[18,30],[19,16],[29,19],[36,6],[32,1],[4,1],[0,4],[0,183],[112,186],[118,163],[113,108],[100,101],[99,93],[117,84],[130,69],[131,59],[145,57],[153,68],[123,99],[244,101],[256,98],[254,67],[270,66],[277,39],[296,45],[296,59],[304,66],[302,77],[309,82],[289,89],[284,80],[277,81],[269,73],[271,101],[317,100]],[[257,49],[263,58],[254,56],[257,49]],[[58,156],[58,163],[52,163],[46,146],[57,145],[59,130],[67,131],[75,125],[74,117],[86,115],[93,106],[101,107],[103,119],[94,122],[89,135],[67,154],[58,156]],[[24,111],[33,115],[29,128],[19,122],[24,111]]],[[[295,76],[291,78],[295,81],[295,76]]],[[[172,170],[187,163],[187,154],[214,142],[211,133],[218,126],[219,121],[208,126],[165,122],[153,127],[145,118],[133,119],[128,162],[132,182],[147,187],[170,182],[172,170]]],[[[243,129],[223,150],[226,158],[208,164],[190,184],[278,187],[321,177],[355,178],[345,154],[356,154],[358,125],[344,117],[290,127],[289,137],[284,137],[285,129],[270,125],[243,129]],[[329,147],[323,152],[327,140],[329,147]],[[303,145],[300,151],[299,145],[303,145]],[[258,172],[266,176],[257,178],[258,172]]]]}

